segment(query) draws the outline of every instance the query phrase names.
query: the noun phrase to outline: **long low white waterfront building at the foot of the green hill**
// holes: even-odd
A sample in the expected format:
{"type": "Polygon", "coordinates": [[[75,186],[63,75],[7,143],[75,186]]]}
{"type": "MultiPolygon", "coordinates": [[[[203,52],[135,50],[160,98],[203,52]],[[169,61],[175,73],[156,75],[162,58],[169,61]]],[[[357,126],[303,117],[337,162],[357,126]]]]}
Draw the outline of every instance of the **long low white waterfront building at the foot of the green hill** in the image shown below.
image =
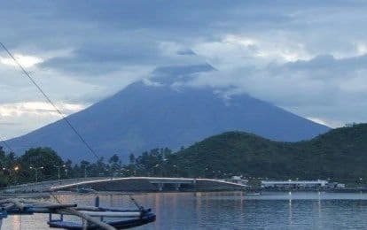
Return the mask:
{"type": "Polygon", "coordinates": [[[262,188],[324,188],[328,180],[262,180],[262,188]]]}

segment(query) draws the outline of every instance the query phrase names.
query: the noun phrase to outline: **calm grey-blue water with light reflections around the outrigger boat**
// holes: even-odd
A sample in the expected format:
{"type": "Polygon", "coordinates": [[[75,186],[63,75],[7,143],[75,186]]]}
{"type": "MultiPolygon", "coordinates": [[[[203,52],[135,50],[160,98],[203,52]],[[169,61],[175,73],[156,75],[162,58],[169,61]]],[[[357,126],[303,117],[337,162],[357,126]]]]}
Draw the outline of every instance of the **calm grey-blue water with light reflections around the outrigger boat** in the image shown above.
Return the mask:
{"type": "MultiPolygon", "coordinates": [[[[242,192],[164,193],[134,196],[157,220],[136,229],[367,229],[367,194],[242,192]]],[[[94,196],[59,196],[64,203],[93,204],[94,196]]],[[[133,207],[129,198],[101,203],[133,207]]],[[[49,229],[47,215],[13,216],[3,229],[49,229]]]]}

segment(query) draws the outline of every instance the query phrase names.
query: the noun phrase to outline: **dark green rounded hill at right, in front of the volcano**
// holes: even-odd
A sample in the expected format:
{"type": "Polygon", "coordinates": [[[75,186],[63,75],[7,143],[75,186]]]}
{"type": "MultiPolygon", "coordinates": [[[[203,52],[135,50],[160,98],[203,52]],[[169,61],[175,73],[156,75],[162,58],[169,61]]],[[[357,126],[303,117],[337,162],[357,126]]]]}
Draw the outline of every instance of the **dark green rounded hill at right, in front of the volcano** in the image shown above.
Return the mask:
{"type": "Polygon", "coordinates": [[[367,179],[367,124],[333,129],[305,142],[228,132],[181,150],[175,161],[177,173],[186,176],[367,179]]]}

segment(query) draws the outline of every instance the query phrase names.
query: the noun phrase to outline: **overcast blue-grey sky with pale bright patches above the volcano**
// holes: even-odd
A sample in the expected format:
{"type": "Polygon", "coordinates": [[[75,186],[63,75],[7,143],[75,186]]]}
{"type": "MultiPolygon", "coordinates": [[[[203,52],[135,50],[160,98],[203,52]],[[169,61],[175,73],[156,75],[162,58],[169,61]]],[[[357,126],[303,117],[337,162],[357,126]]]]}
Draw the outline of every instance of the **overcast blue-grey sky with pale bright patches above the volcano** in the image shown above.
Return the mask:
{"type": "MultiPolygon", "coordinates": [[[[367,1],[6,1],[0,42],[66,114],[168,65],[212,65],[230,88],[308,119],[367,121],[367,1]]],[[[59,119],[0,51],[0,130],[59,119]]]]}

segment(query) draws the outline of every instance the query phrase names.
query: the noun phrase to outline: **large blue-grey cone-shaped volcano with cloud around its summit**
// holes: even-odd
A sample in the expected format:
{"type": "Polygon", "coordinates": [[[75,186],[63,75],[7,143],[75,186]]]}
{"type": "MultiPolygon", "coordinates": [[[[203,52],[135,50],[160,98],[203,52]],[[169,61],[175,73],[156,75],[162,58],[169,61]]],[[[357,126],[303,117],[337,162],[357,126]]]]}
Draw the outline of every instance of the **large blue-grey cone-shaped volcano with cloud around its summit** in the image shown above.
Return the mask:
{"type": "MultiPolygon", "coordinates": [[[[184,77],[184,68],[180,68],[180,76],[184,77]]],[[[177,70],[168,70],[177,74],[177,70]]],[[[212,71],[209,67],[198,66],[187,70],[190,73],[212,71]]],[[[160,74],[162,71],[164,69],[160,74]]],[[[101,157],[115,153],[121,156],[130,152],[140,154],[156,147],[178,149],[231,130],[293,142],[312,138],[329,129],[251,96],[224,100],[211,88],[173,88],[161,82],[146,84],[141,81],[68,119],[101,157]]],[[[29,147],[49,146],[64,158],[92,157],[62,120],[9,142],[17,152],[29,147]]]]}

